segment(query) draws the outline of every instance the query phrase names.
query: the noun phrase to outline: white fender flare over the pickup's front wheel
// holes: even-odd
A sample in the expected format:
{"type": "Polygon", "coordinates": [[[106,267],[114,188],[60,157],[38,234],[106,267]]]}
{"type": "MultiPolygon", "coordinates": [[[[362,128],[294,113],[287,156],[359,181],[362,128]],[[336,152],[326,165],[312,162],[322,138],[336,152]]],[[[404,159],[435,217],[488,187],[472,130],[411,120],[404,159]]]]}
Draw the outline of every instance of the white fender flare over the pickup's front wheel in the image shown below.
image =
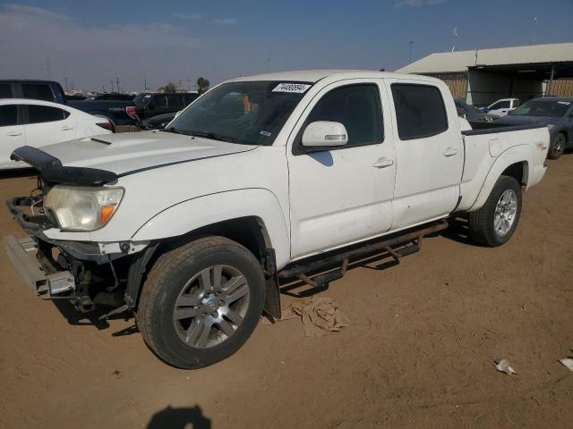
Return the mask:
{"type": "Polygon", "coordinates": [[[277,257],[278,268],[290,258],[289,231],[278,199],[269,189],[236,189],[191,198],[152,216],[132,240],[162,240],[198,230],[213,223],[246,216],[261,219],[277,257]]]}

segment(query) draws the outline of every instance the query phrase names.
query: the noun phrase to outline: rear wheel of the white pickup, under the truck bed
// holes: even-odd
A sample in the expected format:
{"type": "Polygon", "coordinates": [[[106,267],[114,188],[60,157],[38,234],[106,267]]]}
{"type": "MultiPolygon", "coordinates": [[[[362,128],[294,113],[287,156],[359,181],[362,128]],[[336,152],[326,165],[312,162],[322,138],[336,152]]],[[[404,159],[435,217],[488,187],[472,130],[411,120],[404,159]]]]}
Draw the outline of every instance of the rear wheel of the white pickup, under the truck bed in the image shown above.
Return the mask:
{"type": "Polygon", "coordinates": [[[519,223],[521,199],[519,183],[500,176],[483,207],[469,214],[470,237],[491,248],[506,243],[519,223]]]}

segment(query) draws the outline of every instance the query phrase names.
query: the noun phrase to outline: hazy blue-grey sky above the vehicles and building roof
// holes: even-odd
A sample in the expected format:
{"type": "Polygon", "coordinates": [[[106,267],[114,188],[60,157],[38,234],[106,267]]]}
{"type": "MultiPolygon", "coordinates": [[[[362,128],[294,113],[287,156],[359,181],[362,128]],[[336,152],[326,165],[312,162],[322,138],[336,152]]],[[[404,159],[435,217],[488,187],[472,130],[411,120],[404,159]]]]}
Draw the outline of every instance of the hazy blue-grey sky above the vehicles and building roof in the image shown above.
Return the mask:
{"type": "Polygon", "coordinates": [[[573,42],[573,0],[13,0],[0,1],[0,40],[0,79],[194,89],[200,76],[394,71],[410,51],[573,42]]]}

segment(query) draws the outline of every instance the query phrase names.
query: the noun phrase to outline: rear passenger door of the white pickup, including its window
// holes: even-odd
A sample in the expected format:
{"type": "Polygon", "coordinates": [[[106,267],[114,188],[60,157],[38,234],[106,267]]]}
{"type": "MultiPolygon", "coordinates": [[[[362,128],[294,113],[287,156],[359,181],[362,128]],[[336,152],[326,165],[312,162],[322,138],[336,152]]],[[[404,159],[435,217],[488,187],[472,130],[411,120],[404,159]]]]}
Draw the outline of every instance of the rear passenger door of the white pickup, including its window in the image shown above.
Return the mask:
{"type": "Polygon", "coordinates": [[[445,85],[423,80],[386,82],[394,106],[398,160],[392,225],[396,230],[454,210],[464,153],[456,105],[445,85]]]}

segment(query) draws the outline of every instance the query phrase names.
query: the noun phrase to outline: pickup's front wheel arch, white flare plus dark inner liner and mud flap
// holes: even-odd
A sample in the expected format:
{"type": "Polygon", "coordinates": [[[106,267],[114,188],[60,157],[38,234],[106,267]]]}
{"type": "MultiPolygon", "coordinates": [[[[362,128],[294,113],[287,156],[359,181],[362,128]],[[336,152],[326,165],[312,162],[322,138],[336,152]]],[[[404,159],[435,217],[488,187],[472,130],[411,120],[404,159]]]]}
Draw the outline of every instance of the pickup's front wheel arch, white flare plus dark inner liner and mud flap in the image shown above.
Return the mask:
{"type": "Polygon", "coordinates": [[[143,275],[161,254],[209,236],[234,240],[260,261],[266,278],[264,309],[268,315],[280,318],[277,272],[288,262],[290,241],[278,199],[267,189],[241,189],[194,198],[169,207],[141,226],[133,240],[152,240],[153,245],[133,261],[125,290],[126,304],[137,307],[143,275]],[[210,215],[193,215],[201,213],[210,215]]]}

